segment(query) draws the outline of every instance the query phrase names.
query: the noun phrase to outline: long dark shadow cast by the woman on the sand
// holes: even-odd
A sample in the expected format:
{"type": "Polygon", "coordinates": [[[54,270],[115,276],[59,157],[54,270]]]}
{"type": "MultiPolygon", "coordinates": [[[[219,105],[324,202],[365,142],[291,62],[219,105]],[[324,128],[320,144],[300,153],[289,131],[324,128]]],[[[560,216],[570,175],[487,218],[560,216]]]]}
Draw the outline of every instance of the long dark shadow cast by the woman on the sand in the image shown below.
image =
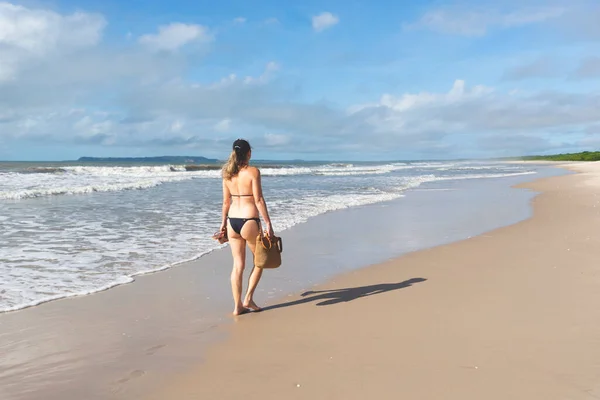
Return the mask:
{"type": "Polygon", "coordinates": [[[290,301],[288,303],[275,304],[272,306],[265,307],[264,310],[275,310],[277,308],[284,308],[290,306],[296,306],[299,304],[310,303],[313,301],[319,301],[317,306],[330,306],[333,304],[344,303],[359,299],[361,297],[372,296],[374,294],[391,292],[392,290],[404,289],[412,286],[415,283],[424,282],[425,278],[412,278],[403,282],[398,283],[379,283],[377,285],[359,286],[353,288],[344,289],[333,289],[333,290],[310,290],[302,293],[304,299],[290,301]],[[310,297],[306,297],[310,296],[310,297]]]}

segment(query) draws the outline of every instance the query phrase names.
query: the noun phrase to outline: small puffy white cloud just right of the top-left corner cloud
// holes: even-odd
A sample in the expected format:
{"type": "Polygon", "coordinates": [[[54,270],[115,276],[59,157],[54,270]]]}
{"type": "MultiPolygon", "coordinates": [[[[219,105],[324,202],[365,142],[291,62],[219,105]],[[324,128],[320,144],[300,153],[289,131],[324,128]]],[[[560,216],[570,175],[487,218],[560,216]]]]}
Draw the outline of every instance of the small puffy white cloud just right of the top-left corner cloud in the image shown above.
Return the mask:
{"type": "Polygon", "coordinates": [[[172,23],[160,26],[157,34],[141,36],[139,41],[152,50],[174,51],[192,42],[206,43],[212,39],[208,28],[202,25],[172,23]]]}

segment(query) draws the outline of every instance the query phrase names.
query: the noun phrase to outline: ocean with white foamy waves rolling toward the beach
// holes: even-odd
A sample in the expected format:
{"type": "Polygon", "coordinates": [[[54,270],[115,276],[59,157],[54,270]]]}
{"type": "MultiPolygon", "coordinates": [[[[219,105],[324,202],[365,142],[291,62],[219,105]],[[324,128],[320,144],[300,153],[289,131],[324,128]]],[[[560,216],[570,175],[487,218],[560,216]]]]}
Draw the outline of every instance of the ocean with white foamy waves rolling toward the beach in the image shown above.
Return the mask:
{"type": "MultiPolygon", "coordinates": [[[[398,199],[431,182],[536,173],[492,161],[257,166],[283,236],[320,214],[398,199]]],[[[226,246],[211,239],[221,218],[219,167],[0,162],[0,312],[106,290],[226,246]]]]}

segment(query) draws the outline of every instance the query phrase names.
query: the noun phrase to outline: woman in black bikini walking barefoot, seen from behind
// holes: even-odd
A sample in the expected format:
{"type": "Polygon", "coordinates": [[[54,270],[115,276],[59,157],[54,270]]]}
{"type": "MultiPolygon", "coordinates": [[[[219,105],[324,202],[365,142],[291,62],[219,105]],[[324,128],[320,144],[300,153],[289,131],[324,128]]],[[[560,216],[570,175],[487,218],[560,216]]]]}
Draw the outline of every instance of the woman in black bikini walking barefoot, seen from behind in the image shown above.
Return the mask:
{"type": "Polygon", "coordinates": [[[248,291],[242,302],[242,277],[246,264],[246,244],[254,254],[256,237],[260,232],[260,215],[265,221],[269,236],[273,236],[271,219],[263,198],[260,171],[248,165],[252,150],[243,139],[233,142],[233,151],[223,166],[223,222],[221,232],[227,230],[233,271],[231,290],[235,308],[234,315],[249,311],[261,311],[254,302],[254,291],[262,276],[262,269],[253,267],[248,282],[248,291]]]}

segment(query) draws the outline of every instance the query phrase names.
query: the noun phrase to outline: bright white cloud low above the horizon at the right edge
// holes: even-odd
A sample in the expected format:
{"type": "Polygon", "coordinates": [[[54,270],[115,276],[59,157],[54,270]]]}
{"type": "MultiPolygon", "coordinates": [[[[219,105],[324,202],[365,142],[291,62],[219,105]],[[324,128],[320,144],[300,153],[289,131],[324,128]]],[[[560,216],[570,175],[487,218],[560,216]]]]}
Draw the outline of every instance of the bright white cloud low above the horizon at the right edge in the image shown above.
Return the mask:
{"type": "Polygon", "coordinates": [[[600,122],[599,107],[595,92],[510,94],[469,88],[458,80],[447,93],[384,95],[375,104],[352,108],[349,120],[355,125],[351,132],[370,132],[365,148],[400,141],[403,148],[418,149],[462,141],[474,153],[518,154],[519,146],[546,150],[554,137],[572,142],[584,127],[600,122]],[[509,149],[505,143],[511,141],[509,149]]]}

